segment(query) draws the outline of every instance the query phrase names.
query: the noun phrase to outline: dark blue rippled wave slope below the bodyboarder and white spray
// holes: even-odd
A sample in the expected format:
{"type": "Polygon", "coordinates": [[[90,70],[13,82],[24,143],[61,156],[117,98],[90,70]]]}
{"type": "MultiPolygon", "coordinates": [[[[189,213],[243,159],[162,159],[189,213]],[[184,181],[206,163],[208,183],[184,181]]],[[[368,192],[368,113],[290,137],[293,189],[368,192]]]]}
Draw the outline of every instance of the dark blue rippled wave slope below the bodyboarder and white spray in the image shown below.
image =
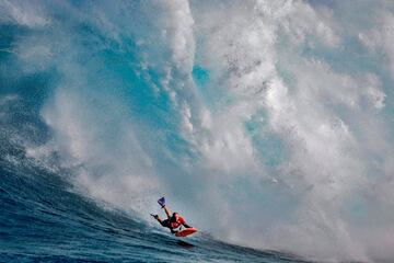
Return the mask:
{"type": "Polygon", "coordinates": [[[25,162],[1,159],[0,262],[304,262],[204,232],[177,239],[132,214],[104,209],[58,174],[25,162]]]}

